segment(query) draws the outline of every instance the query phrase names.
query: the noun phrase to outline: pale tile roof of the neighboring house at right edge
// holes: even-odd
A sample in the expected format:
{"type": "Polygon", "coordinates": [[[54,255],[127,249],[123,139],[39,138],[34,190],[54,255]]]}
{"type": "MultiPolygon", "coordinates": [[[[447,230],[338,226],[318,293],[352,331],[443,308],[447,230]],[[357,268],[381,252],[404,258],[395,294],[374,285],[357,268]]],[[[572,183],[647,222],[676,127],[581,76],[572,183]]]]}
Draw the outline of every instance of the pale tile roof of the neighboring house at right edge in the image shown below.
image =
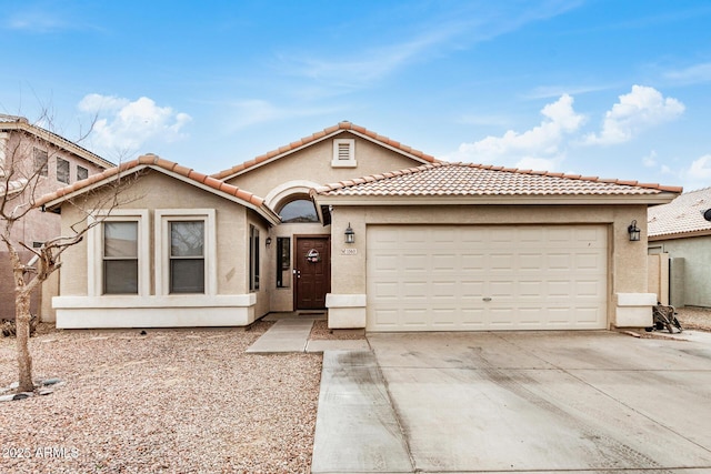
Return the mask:
{"type": "Polygon", "coordinates": [[[681,194],[669,204],[649,208],[649,240],[711,235],[711,222],[702,212],[711,209],[711,188],[681,194]]]}

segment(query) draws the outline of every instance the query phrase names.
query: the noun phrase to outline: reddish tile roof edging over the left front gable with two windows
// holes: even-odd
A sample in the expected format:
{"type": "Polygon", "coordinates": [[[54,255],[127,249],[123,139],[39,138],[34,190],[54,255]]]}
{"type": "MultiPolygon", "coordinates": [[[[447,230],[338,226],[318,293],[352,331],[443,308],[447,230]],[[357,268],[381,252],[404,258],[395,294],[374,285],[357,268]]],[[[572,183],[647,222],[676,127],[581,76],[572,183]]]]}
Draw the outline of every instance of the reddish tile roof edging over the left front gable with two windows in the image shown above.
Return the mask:
{"type": "Polygon", "coordinates": [[[46,194],[36,201],[34,206],[56,208],[69,199],[112,181],[117,174],[124,177],[147,168],[253,209],[272,224],[280,222],[279,215],[264,203],[263,199],[223,181],[208,177],[207,174],[199,173],[190,168],[163,160],[156,154],[141,155],[137,160],[121,163],[119,167],[110,168],[102,173],[92,174],[86,180],[77,181],[71,185],[46,194]]]}

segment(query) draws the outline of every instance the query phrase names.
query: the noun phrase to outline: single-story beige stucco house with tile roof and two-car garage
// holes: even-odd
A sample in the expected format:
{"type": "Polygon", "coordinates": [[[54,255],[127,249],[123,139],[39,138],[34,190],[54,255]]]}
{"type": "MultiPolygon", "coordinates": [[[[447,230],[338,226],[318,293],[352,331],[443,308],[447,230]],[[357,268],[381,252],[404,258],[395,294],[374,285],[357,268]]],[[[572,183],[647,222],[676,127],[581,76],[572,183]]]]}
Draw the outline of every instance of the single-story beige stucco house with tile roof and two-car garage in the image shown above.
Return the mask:
{"type": "MultiPolygon", "coordinates": [[[[645,232],[628,228],[681,192],[444,163],[350,122],[212,177],[154,155],[117,171],[134,198],[63,255],[59,327],[314,310],[369,331],[645,326],[645,232]]],[[[38,204],[68,226],[117,171],[38,204]]]]}

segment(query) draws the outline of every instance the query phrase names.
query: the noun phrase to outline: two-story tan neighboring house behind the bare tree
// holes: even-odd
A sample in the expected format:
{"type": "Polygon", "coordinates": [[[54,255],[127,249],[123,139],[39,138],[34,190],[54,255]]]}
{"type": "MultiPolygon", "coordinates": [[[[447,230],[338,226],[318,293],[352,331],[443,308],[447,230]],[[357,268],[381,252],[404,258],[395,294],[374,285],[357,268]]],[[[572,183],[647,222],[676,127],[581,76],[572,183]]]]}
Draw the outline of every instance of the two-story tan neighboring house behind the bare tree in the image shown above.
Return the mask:
{"type": "MultiPolygon", "coordinates": [[[[0,195],[22,191],[23,184],[33,183],[31,175],[39,172],[36,196],[51,192],[99,173],[113,163],[91,153],[88,150],[49,132],[41,127],[32,125],[23,117],[0,114],[0,195]]],[[[18,203],[30,203],[29,195],[21,196],[18,203]]],[[[13,203],[16,204],[16,203],[13,203]]],[[[30,246],[39,246],[44,241],[59,234],[60,220],[54,215],[42,215],[31,212],[14,226],[12,238],[30,246]]],[[[24,262],[29,262],[32,253],[20,250],[24,262]]],[[[14,317],[14,279],[7,249],[0,243],[0,319],[14,317]]],[[[49,281],[44,290],[57,294],[57,279],[49,281]]],[[[44,320],[52,319],[50,300],[41,303],[39,292],[33,295],[31,311],[44,320]]]]}

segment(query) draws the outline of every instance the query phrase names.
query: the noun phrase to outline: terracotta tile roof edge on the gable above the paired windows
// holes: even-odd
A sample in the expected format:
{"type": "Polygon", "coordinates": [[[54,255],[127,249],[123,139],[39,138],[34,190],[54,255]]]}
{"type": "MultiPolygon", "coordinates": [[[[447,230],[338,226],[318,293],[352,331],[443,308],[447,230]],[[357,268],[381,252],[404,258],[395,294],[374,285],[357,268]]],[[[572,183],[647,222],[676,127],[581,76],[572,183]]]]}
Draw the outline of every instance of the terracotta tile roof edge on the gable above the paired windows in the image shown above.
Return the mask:
{"type": "Polygon", "coordinates": [[[163,160],[156,154],[141,155],[137,160],[127,161],[124,163],[121,163],[119,167],[110,168],[102,173],[92,174],[86,180],[77,181],[76,183],[61,188],[52,193],[44,194],[36,201],[34,206],[39,208],[52,201],[61,200],[62,198],[69,198],[71,194],[74,194],[82,190],[88,190],[92,188],[92,184],[108,180],[116,174],[140,171],[143,168],[152,168],[159,171],[178,174],[184,181],[193,182],[194,184],[202,184],[210,188],[218,194],[227,194],[229,196],[237,198],[238,200],[252,204],[254,208],[268,210],[270,214],[273,214],[271,209],[269,209],[267,204],[264,204],[264,200],[262,198],[259,198],[240,188],[228,184],[224,181],[220,181],[207,174],[199,173],[190,168],[181,167],[180,164],[172,161],[163,160]]]}

